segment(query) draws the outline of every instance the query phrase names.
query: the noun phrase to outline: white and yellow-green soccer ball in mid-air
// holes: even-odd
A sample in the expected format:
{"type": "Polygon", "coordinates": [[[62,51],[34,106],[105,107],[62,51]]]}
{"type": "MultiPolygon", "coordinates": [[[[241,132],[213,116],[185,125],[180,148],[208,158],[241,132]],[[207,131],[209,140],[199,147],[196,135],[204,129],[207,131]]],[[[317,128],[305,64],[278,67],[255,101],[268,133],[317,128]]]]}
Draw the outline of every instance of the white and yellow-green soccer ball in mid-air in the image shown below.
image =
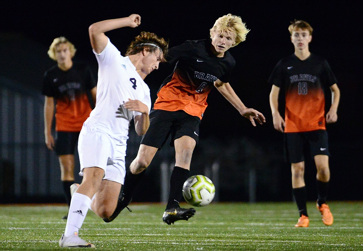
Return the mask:
{"type": "Polygon", "coordinates": [[[191,176],[183,185],[185,201],[195,207],[207,206],[212,202],[215,192],[212,180],[204,175],[191,176]]]}

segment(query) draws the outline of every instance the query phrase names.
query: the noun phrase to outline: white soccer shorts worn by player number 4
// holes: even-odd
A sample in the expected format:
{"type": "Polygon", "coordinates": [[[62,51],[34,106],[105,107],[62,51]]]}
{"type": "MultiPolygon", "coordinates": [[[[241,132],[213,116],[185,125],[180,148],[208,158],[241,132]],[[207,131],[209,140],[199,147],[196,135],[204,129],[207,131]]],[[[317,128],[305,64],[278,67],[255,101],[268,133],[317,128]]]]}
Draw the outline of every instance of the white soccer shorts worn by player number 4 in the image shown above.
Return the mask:
{"type": "Polygon", "coordinates": [[[80,176],[87,167],[99,167],[105,171],[103,179],[123,184],[126,167],[126,144],[100,130],[83,126],[78,139],[80,176]]]}

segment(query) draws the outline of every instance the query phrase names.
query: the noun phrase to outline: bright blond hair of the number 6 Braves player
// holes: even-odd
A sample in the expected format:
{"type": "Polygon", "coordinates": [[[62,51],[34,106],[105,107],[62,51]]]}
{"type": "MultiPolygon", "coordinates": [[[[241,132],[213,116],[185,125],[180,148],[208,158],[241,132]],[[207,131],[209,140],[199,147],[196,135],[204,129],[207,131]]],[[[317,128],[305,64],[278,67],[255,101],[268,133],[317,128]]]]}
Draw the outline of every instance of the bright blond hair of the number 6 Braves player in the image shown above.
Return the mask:
{"type": "Polygon", "coordinates": [[[217,19],[209,31],[211,38],[215,31],[234,33],[234,35],[236,35],[236,40],[232,45],[232,47],[234,47],[246,40],[246,35],[250,30],[246,28],[246,24],[242,22],[241,17],[228,14],[217,19]]]}

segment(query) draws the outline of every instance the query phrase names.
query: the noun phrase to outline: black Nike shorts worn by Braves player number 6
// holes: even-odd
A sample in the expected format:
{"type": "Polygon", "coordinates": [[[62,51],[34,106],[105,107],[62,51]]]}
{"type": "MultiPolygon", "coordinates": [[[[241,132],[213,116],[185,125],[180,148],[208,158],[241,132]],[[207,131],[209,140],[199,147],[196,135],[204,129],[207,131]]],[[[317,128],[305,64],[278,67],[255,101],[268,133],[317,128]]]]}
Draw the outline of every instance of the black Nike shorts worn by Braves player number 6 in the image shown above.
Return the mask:
{"type": "Polygon", "coordinates": [[[174,140],[181,136],[193,138],[196,145],[199,141],[200,118],[192,116],[182,110],[165,111],[151,110],[150,127],[142,137],[141,143],[146,146],[162,148],[171,135],[170,146],[174,147],[174,140]]]}

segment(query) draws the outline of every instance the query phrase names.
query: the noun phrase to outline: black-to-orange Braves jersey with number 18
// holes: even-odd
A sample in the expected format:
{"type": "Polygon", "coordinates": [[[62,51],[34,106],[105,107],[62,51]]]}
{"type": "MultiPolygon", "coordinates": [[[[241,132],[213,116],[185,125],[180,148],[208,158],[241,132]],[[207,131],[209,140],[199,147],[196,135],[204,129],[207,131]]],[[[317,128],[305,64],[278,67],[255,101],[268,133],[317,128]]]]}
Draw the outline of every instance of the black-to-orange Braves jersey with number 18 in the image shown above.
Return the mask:
{"type": "Polygon", "coordinates": [[[285,89],[285,132],[326,130],[324,90],[337,79],[324,58],[281,59],[268,82],[285,89]]]}

